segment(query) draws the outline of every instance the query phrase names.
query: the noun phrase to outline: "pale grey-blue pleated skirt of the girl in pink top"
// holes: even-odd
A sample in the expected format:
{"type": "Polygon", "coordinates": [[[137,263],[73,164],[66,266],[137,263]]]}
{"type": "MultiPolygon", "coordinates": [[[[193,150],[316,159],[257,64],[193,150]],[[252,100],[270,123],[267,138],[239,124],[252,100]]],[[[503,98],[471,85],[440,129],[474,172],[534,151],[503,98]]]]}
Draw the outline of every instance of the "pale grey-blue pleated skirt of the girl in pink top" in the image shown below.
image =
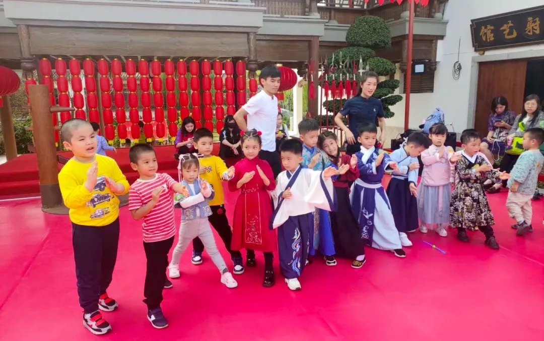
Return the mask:
{"type": "Polygon", "coordinates": [[[426,186],[421,182],[417,188],[417,213],[422,224],[448,224],[451,197],[449,184],[426,186]]]}

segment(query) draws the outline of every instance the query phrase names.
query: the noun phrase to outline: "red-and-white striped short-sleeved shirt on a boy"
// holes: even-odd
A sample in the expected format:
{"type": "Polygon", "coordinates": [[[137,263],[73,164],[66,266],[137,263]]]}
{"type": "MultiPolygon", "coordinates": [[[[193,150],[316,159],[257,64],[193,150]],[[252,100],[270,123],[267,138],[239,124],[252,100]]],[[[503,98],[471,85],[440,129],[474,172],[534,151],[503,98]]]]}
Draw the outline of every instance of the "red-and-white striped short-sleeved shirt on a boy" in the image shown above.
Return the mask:
{"type": "Polygon", "coordinates": [[[174,189],[177,181],[168,174],[157,173],[153,180],[136,180],[128,192],[128,210],[137,210],[151,201],[151,193],[157,187],[166,191],[160,193],[159,202],[144,217],[142,232],[145,242],[169,239],[176,234],[174,221],[174,189]]]}

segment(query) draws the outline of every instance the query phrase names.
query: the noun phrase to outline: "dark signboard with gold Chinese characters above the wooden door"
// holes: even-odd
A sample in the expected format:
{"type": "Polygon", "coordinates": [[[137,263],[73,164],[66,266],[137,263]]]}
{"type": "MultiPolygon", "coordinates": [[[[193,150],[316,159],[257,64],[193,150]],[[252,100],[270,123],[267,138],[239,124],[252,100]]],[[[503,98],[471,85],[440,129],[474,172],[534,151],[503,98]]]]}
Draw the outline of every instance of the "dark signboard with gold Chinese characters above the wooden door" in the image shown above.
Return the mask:
{"type": "Polygon", "coordinates": [[[544,43],[544,6],[471,20],[474,51],[544,43]]]}

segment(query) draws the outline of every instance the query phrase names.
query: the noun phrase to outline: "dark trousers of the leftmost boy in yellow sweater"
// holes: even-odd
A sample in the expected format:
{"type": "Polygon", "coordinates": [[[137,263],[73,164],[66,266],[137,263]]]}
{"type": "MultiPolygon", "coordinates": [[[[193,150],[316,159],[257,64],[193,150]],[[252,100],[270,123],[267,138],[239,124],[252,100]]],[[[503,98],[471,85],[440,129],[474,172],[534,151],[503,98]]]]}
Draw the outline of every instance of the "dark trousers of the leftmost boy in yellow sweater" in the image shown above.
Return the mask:
{"type": "Polygon", "coordinates": [[[72,223],[77,294],[85,314],[98,310],[100,295],[106,293],[112,283],[118,245],[119,218],[100,227],[72,223]]]}

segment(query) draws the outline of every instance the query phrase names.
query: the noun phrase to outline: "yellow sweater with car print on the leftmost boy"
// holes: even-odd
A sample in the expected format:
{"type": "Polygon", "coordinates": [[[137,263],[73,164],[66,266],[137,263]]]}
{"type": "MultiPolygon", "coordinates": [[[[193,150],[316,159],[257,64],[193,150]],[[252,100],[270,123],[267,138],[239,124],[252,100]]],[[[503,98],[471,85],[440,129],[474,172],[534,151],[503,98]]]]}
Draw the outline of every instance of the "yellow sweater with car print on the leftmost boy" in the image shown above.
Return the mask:
{"type": "Polygon", "coordinates": [[[128,193],[127,178],[115,160],[96,155],[96,162],[98,176],[92,192],[83,186],[92,163],[70,159],[59,173],[59,186],[64,204],[70,209],[70,220],[78,225],[106,226],[119,217],[119,199],[106,187],[104,176],[123,184],[125,191],[122,194],[128,193]]]}

